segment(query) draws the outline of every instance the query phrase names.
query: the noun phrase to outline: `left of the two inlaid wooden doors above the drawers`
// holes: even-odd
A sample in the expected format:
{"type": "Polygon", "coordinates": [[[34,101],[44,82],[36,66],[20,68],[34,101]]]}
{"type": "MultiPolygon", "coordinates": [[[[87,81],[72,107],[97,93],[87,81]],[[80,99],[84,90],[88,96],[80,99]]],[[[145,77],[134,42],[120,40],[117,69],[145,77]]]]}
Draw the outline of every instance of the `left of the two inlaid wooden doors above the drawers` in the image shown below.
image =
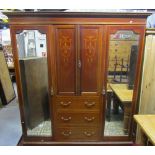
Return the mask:
{"type": "Polygon", "coordinates": [[[56,26],[56,72],[57,93],[75,94],[75,28],[74,26],[56,26]]]}

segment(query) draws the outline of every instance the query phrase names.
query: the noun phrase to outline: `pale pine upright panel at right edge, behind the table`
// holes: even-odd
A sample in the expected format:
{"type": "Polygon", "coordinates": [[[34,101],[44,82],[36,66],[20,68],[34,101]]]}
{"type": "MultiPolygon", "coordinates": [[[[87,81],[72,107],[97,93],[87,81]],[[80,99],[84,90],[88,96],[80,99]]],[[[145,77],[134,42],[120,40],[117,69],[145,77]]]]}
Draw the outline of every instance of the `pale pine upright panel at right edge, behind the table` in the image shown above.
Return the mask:
{"type": "Polygon", "coordinates": [[[155,34],[146,36],[140,95],[141,114],[155,114],[155,34]]]}

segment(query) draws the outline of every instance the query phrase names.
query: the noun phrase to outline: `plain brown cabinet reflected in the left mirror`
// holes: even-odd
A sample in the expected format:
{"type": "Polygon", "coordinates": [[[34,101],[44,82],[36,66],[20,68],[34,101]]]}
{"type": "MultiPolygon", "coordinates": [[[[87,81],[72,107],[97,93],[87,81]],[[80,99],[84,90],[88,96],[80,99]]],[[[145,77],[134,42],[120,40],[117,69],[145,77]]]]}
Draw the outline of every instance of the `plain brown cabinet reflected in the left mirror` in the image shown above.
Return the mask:
{"type": "Polygon", "coordinates": [[[24,108],[28,128],[49,117],[47,58],[19,60],[24,108]]]}

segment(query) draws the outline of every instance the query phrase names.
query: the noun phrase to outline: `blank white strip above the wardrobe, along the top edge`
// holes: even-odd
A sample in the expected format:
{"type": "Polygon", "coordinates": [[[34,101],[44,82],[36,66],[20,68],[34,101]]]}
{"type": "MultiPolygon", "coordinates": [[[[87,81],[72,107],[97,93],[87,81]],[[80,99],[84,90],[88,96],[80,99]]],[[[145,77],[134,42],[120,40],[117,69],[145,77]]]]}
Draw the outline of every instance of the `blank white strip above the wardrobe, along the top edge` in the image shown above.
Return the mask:
{"type": "Polygon", "coordinates": [[[154,0],[0,0],[2,9],[154,9],[154,0]]]}

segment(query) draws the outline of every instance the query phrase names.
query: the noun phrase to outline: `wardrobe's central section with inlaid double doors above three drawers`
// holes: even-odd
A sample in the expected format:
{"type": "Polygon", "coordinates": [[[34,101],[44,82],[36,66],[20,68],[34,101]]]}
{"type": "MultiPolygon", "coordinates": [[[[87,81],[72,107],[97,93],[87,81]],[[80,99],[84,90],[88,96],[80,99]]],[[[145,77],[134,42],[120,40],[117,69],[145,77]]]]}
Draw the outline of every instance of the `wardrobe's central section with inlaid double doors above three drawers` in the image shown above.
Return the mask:
{"type": "Polygon", "coordinates": [[[52,112],[56,141],[99,141],[103,133],[104,27],[52,27],[52,112]]]}

